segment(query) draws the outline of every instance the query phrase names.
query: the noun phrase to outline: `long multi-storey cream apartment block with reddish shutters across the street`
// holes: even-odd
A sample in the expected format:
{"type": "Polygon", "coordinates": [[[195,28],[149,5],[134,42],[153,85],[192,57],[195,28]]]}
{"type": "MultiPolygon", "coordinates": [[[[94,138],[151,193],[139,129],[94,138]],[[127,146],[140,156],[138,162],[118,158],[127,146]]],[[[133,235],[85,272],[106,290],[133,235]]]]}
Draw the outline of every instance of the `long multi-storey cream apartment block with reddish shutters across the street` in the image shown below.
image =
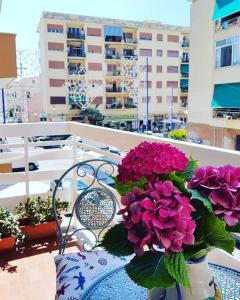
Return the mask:
{"type": "Polygon", "coordinates": [[[43,12],[38,32],[49,120],[78,120],[88,99],[133,127],[145,124],[147,99],[149,126],[170,114],[186,120],[189,28],[43,12]]]}

